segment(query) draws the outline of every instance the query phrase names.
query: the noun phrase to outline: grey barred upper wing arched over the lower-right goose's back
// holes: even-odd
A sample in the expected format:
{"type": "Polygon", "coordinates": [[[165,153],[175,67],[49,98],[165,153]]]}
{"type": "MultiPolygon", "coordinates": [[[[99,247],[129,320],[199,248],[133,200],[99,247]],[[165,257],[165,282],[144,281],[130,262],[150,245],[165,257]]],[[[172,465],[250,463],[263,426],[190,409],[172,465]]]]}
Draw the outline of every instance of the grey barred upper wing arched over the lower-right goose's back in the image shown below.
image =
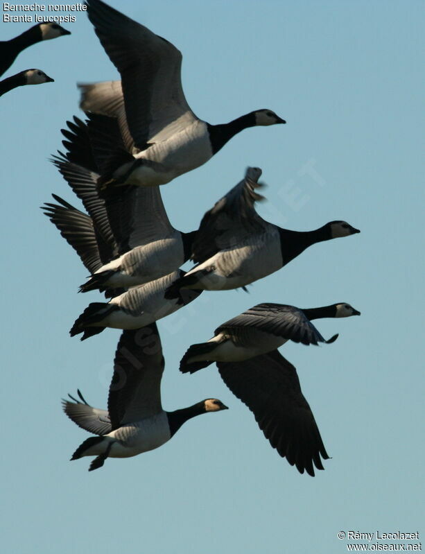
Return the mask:
{"type": "Polygon", "coordinates": [[[223,323],[215,334],[225,331],[234,337],[237,343],[239,335],[244,340],[247,329],[258,329],[272,335],[281,336],[287,340],[303,345],[317,345],[325,340],[306,318],[302,310],[286,304],[257,304],[247,311],[236,315],[236,318],[223,323]]]}

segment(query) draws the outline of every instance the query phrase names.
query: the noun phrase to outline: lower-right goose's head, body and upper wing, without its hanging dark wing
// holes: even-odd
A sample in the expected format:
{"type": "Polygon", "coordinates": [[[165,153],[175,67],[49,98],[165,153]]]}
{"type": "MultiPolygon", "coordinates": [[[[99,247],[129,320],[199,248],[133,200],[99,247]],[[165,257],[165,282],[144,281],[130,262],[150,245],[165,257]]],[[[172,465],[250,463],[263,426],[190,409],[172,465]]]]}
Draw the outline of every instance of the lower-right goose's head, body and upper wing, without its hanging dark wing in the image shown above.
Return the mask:
{"type": "Polygon", "coordinates": [[[303,345],[333,343],[338,335],[324,340],[311,323],[319,318],[349,318],[360,312],[341,302],[320,308],[300,309],[286,304],[257,304],[223,323],[207,343],[192,345],[180,362],[180,371],[193,373],[213,361],[239,362],[266,354],[286,341],[303,345]]]}

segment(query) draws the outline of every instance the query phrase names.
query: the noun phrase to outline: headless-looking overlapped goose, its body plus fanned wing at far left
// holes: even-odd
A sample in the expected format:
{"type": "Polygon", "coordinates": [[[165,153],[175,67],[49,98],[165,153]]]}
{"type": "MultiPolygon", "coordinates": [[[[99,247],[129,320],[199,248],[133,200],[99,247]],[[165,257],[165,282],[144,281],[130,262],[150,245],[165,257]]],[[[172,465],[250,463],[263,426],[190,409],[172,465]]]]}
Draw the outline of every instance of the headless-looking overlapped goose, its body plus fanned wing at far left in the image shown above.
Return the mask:
{"type": "MultiPolygon", "coordinates": [[[[74,208],[59,196],[53,195],[59,204],[47,202],[42,206],[64,239],[76,250],[85,267],[95,271],[102,260],[110,258],[111,245],[96,233],[92,218],[74,208]]],[[[83,333],[81,340],[101,333],[106,327],[113,329],[139,329],[189,304],[202,291],[183,291],[173,300],[164,298],[164,291],[184,272],[177,270],[170,275],[144,285],[118,291],[110,302],[92,302],[78,317],[70,331],[71,336],[83,333]]],[[[108,291],[112,295],[114,291],[108,291]]]]}

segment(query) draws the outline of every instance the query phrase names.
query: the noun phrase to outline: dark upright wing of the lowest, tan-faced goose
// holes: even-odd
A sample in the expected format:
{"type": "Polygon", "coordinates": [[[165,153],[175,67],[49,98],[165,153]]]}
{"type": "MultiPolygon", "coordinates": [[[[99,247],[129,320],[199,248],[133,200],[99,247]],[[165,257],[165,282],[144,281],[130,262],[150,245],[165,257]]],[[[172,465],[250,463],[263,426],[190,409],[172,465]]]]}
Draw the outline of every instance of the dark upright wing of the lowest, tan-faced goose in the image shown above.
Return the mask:
{"type": "Polygon", "coordinates": [[[116,347],[107,408],[112,430],[162,410],[164,371],[161,339],[155,324],[123,331],[116,347]]]}

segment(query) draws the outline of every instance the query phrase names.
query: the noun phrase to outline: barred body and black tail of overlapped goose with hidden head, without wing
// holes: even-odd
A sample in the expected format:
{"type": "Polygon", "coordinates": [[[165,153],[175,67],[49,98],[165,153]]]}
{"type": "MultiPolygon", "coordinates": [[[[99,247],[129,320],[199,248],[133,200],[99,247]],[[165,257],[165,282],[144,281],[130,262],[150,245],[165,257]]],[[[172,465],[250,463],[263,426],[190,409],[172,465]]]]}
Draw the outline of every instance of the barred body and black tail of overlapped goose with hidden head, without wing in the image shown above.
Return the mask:
{"type": "Polygon", "coordinates": [[[112,329],[139,329],[186,306],[195,300],[202,291],[182,291],[173,300],[164,298],[164,291],[184,271],[177,270],[150,281],[144,285],[130,288],[116,296],[110,302],[92,302],[78,316],[69,331],[71,336],[83,333],[81,340],[101,333],[106,327],[112,329]]]}

